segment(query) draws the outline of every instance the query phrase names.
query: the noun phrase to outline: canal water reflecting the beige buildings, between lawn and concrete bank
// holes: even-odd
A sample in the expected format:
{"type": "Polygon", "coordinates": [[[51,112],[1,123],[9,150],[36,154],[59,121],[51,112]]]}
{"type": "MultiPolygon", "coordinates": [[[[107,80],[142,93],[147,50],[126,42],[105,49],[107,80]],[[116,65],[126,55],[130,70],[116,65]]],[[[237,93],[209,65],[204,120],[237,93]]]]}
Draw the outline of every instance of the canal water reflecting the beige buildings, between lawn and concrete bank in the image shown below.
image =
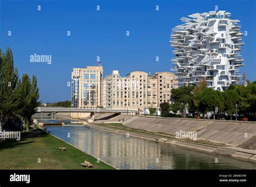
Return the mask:
{"type": "Polygon", "coordinates": [[[47,126],[47,131],[119,169],[256,169],[256,163],[86,126],[47,126]],[[70,135],[70,136],[69,136],[70,135]],[[215,163],[215,159],[218,163],[215,163]]]}

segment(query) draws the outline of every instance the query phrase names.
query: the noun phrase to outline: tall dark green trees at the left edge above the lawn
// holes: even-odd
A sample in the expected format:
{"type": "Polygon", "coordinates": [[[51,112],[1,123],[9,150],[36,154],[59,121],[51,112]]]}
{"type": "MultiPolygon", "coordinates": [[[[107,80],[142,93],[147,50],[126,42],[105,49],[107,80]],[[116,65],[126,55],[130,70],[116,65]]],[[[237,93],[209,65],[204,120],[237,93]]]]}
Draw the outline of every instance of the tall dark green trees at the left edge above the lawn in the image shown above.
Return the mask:
{"type": "Polygon", "coordinates": [[[31,117],[40,104],[37,78],[34,75],[30,78],[28,74],[19,78],[10,48],[5,48],[5,53],[0,49],[0,78],[1,128],[19,123],[28,130],[31,117]]]}

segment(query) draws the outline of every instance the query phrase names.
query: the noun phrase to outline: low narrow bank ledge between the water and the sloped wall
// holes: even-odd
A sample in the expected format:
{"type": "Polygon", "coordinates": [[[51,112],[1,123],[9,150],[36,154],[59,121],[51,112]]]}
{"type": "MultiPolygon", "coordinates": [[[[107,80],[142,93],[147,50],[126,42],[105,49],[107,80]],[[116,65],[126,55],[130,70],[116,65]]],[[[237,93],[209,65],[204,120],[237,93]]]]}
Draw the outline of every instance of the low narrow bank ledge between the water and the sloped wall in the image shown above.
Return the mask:
{"type": "Polygon", "coordinates": [[[245,159],[247,161],[256,162],[256,150],[242,149],[239,147],[225,146],[223,144],[217,144],[207,141],[191,141],[188,139],[176,139],[171,135],[163,133],[154,133],[136,128],[130,128],[118,123],[102,123],[102,124],[87,124],[91,128],[102,130],[106,132],[112,132],[122,134],[125,136],[133,136],[137,138],[143,138],[147,140],[157,141],[161,143],[167,143],[174,146],[182,146],[192,149],[197,149],[204,152],[210,152],[214,154],[223,154],[228,156],[237,157],[238,159],[245,159]]]}

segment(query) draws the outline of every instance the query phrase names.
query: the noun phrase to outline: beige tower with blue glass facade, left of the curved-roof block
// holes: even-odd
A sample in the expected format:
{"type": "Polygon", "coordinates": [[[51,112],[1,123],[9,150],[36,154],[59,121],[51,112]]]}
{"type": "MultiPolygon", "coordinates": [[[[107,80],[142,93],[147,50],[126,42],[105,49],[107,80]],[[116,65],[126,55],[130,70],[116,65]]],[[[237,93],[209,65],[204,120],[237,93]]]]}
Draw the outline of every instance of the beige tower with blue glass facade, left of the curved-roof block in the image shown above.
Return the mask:
{"type": "Polygon", "coordinates": [[[71,73],[71,105],[74,108],[92,109],[100,106],[102,66],[73,68],[71,73]]]}

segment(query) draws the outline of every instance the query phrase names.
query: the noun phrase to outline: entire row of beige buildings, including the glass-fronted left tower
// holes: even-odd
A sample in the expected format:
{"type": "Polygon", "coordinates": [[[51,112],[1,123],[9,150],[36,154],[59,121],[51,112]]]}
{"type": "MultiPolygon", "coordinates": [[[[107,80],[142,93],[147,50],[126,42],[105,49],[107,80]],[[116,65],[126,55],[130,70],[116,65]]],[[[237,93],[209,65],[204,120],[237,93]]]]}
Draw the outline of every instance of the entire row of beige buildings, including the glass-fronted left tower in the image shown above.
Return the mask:
{"type": "Polygon", "coordinates": [[[118,70],[102,78],[103,68],[87,66],[72,72],[72,107],[144,110],[171,101],[171,89],[178,88],[171,72],[147,75],[133,71],[125,77],[118,70]]]}

